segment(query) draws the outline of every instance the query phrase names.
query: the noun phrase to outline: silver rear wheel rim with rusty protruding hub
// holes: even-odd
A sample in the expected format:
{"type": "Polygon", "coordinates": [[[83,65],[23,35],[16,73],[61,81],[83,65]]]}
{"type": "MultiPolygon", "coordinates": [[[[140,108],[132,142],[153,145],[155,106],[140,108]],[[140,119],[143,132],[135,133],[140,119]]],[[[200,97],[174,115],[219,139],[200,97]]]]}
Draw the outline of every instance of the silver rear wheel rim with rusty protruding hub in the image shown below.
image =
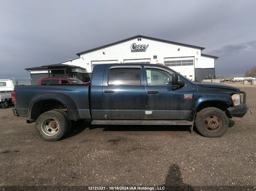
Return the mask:
{"type": "Polygon", "coordinates": [[[47,118],[42,123],[42,131],[45,135],[53,136],[59,132],[60,125],[56,119],[47,118]]]}

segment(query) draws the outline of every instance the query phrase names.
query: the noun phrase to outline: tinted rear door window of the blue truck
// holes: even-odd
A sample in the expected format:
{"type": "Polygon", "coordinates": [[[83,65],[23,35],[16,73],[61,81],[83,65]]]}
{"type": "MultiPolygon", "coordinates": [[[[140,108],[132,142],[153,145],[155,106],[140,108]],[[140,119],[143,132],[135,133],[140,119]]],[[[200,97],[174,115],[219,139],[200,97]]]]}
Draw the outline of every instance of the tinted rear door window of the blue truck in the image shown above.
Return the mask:
{"type": "Polygon", "coordinates": [[[140,68],[111,68],[108,73],[108,85],[140,85],[140,68]]]}

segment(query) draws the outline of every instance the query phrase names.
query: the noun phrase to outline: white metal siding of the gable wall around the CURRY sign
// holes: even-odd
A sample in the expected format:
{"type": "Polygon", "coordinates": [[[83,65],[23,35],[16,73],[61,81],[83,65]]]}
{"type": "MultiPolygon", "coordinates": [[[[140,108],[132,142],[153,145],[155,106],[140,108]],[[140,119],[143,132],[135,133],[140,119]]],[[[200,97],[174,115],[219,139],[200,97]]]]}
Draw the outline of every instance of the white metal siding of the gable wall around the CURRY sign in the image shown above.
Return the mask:
{"type": "Polygon", "coordinates": [[[146,38],[141,38],[141,41],[138,41],[137,38],[135,38],[112,46],[97,49],[89,53],[81,54],[79,59],[75,59],[72,62],[65,62],[63,64],[81,66],[86,68],[88,73],[91,73],[91,64],[93,61],[117,60],[118,63],[124,63],[124,60],[150,59],[152,64],[156,64],[164,63],[164,58],[188,56],[194,57],[195,59],[198,58],[198,63],[200,63],[201,49],[146,38]],[[145,52],[131,52],[132,43],[136,43],[137,45],[145,44],[148,45],[148,48],[145,52]],[[179,51],[178,48],[180,49],[179,51]],[[157,55],[157,59],[153,59],[154,55],[157,55]]]}

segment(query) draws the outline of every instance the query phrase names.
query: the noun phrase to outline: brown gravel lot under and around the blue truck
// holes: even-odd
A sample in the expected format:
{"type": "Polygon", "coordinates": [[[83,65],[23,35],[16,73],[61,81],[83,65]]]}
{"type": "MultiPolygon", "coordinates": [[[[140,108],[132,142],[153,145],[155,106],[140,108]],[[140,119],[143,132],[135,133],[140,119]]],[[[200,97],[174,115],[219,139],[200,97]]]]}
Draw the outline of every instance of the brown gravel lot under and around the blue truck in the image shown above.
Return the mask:
{"type": "Polygon", "coordinates": [[[230,119],[220,138],[205,138],[196,130],[190,134],[188,126],[92,126],[85,121],[75,123],[64,139],[45,142],[35,135],[35,123],[14,116],[11,107],[0,109],[0,186],[256,190],[256,86],[236,86],[247,92],[253,113],[230,119]]]}

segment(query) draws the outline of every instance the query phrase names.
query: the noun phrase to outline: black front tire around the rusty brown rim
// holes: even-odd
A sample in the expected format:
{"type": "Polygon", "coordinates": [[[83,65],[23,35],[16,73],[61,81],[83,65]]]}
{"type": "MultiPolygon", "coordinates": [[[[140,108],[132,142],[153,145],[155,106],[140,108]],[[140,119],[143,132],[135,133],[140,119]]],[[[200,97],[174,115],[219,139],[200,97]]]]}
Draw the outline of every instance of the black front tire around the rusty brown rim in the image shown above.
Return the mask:
{"type": "Polygon", "coordinates": [[[207,107],[199,111],[195,118],[195,126],[196,129],[201,133],[201,135],[205,137],[220,137],[222,136],[228,129],[228,117],[226,114],[215,107],[207,107]],[[216,132],[209,132],[205,128],[205,124],[207,122],[205,119],[209,116],[217,116],[218,119],[221,120],[222,126],[216,132]]]}

